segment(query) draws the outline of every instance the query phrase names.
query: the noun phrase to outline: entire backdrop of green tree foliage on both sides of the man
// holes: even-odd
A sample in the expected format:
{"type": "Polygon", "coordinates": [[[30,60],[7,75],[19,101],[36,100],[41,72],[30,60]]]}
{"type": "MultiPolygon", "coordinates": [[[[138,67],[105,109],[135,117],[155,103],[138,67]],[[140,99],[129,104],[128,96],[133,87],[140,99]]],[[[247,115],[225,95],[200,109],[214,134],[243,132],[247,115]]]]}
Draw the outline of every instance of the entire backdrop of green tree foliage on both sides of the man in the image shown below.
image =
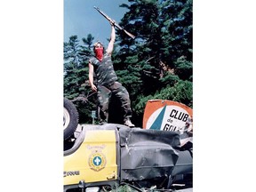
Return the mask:
{"type": "MultiPolygon", "coordinates": [[[[127,12],[119,25],[136,38],[116,30],[112,59],[119,82],[130,93],[135,124],[141,126],[148,100],[175,100],[193,108],[192,0],[129,0],[120,7],[127,12]]],[[[68,99],[92,93],[87,63],[93,40],[89,34],[82,38],[82,45],[77,36],[64,43],[64,96],[68,99]]],[[[91,122],[96,95],[86,105],[76,105],[83,121],[91,122]]]]}

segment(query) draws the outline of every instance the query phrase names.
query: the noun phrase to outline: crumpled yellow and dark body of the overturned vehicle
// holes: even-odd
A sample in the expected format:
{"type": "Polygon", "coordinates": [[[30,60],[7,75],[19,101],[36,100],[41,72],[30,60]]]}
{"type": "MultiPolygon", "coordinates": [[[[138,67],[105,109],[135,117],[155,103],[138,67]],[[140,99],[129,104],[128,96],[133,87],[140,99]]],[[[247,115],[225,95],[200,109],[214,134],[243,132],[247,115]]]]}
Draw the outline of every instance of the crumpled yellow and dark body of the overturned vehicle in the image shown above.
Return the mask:
{"type": "Polygon", "coordinates": [[[192,142],[180,132],[78,124],[64,140],[64,191],[192,188],[192,142]]]}

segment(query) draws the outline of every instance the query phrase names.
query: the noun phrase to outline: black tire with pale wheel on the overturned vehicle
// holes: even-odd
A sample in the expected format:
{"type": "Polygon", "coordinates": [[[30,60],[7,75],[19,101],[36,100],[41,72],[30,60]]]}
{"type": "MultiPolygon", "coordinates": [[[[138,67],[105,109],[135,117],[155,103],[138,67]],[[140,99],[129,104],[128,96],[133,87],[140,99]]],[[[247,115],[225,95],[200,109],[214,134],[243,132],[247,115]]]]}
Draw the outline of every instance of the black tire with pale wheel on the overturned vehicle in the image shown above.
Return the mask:
{"type": "Polygon", "coordinates": [[[68,140],[76,131],[78,125],[78,112],[76,106],[64,98],[64,108],[63,108],[63,128],[64,128],[64,140],[68,140]]]}

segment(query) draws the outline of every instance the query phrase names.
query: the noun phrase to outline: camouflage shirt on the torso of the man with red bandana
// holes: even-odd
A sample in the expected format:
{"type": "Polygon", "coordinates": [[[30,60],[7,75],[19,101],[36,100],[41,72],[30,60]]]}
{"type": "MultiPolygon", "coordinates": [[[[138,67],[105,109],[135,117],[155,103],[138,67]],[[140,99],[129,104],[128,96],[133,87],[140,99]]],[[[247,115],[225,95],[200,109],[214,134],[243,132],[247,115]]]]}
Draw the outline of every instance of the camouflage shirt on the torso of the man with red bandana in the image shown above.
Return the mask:
{"type": "Polygon", "coordinates": [[[107,53],[104,55],[101,62],[95,57],[92,57],[90,62],[94,67],[94,78],[96,79],[97,84],[111,84],[117,80],[111,56],[107,53]]]}

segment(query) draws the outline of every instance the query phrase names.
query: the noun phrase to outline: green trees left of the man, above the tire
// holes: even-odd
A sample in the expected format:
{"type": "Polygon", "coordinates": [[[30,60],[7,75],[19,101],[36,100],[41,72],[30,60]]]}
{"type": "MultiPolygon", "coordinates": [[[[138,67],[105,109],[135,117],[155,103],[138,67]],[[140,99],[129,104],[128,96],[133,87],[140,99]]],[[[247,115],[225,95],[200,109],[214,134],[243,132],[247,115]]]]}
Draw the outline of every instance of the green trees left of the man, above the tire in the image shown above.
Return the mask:
{"type": "Polygon", "coordinates": [[[76,104],[80,123],[92,122],[91,112],[97,108],[96,95],[88,82],[87,63],[92,54],[92,40],[89,34],[81,45],[77,36],[70,36],[68,43],[64,43],[64,97],[76,104]]]}

